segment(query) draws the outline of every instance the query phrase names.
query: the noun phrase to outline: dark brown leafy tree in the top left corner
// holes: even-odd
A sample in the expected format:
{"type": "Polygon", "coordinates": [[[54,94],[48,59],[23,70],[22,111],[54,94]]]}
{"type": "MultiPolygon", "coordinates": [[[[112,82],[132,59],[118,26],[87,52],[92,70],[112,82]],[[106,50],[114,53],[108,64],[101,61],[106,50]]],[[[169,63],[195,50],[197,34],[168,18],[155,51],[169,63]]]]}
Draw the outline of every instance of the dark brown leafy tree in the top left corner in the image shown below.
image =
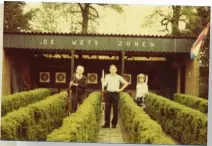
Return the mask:
{"type": "Polygon", "coordinates": [[[4,2],[4,31],[20,32],[29,30],[28,21],[33,17],[34,11],[23,14],[25,2],[4,2]]]}

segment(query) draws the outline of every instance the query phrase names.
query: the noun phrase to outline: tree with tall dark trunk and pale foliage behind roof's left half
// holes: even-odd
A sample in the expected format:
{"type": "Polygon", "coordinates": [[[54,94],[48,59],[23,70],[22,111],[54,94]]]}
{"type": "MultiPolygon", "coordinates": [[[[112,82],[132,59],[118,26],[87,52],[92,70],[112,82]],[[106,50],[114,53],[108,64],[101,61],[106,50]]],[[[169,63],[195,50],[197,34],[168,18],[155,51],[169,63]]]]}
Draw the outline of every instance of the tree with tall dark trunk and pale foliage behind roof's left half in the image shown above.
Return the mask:
{"type": "Polygon", "coordinates": [[[30,22],[35,31],[58,32],[61,22],[69,32],[94,32],[100,19],[96,7],[110,8],[118,13],[123,9],[120,5],[89,4],[89,3],[42,3],[36,16],[30,22]],[[65,25],[66,24],[66,25],[65,25]]]}

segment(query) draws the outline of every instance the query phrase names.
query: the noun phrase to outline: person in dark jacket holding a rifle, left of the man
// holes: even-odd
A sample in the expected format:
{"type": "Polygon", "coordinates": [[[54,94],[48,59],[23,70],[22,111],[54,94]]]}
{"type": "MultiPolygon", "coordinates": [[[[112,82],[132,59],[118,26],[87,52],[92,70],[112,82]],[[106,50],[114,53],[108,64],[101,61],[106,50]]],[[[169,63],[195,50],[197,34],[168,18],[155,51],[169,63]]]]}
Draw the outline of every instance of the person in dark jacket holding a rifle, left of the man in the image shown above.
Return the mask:
{"type": "Polygon", "coordinates": [[[86,76],[83,75],[84,67],[77,66],[76,73],[72,76],[70,87],[72,93],[72,113],[77,111],[78,104],[82,104],[86,96],[86,76]]]}

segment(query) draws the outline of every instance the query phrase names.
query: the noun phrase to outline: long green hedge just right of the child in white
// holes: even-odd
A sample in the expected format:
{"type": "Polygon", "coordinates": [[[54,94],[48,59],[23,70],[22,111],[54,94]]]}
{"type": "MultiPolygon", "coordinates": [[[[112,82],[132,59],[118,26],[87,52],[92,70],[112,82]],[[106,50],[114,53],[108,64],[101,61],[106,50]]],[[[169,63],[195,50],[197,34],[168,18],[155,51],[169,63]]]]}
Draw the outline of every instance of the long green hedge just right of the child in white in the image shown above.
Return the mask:
{"type": "Polygon", "coordinates": [[[207,144],[207,115],[165,97],[149,93],[146,112],[181,144],[207,144]]]}

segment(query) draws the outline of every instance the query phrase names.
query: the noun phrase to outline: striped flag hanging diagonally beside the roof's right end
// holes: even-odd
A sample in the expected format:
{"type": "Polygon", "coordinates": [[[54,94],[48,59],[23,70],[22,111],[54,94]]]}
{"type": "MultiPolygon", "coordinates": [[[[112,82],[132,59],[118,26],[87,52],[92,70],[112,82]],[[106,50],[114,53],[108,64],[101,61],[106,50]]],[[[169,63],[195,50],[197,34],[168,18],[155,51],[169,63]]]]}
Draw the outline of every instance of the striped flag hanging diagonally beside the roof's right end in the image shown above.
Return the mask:
{"type": "Polygon", "coordinates": [[[191,47],[191,52],[190,52],[191,59],[194,59],[195,57],[197,57],[199,50],[201,49],[202,45],[204,44],[205,38],[209,31],[209,27],[210,27],[210,23],[207,24],[207,26],[200,33],[197,40],[194,42],[193,46],[191,47]]]}

